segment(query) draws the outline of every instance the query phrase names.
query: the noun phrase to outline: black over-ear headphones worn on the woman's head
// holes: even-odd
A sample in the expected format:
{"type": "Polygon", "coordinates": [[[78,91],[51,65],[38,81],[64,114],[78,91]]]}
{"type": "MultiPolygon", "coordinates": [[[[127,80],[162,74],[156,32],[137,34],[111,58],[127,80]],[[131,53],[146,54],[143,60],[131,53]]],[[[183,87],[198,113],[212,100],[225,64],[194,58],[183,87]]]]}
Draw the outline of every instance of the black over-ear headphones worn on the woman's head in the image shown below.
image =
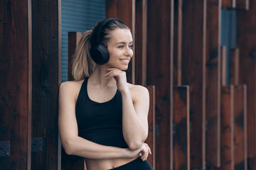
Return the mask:
{"type": "Polygon", "coordinates": [[[92,31],[91,35],[91,49],[90,49],[90,55],[92,57],[92,60],[95,61],[96,64],[105,64],[110,60],[110,53],[107,50],[107,47],[105,45],[102,45],[99,43],[100,40],[100,33],[102,31],[102,28],[104,28],[107,23],[110,21],[117,20],[121,23],[124,23],[123,21],[117,19],[117,18],[105,18],[102,22],[100,22],[100,26],[95,28],[95,31],[92,31]],[[95,32],[95,33],[93,33],[95,32]],[[95,38],[97,38],[95,41],[95,38]]]}

